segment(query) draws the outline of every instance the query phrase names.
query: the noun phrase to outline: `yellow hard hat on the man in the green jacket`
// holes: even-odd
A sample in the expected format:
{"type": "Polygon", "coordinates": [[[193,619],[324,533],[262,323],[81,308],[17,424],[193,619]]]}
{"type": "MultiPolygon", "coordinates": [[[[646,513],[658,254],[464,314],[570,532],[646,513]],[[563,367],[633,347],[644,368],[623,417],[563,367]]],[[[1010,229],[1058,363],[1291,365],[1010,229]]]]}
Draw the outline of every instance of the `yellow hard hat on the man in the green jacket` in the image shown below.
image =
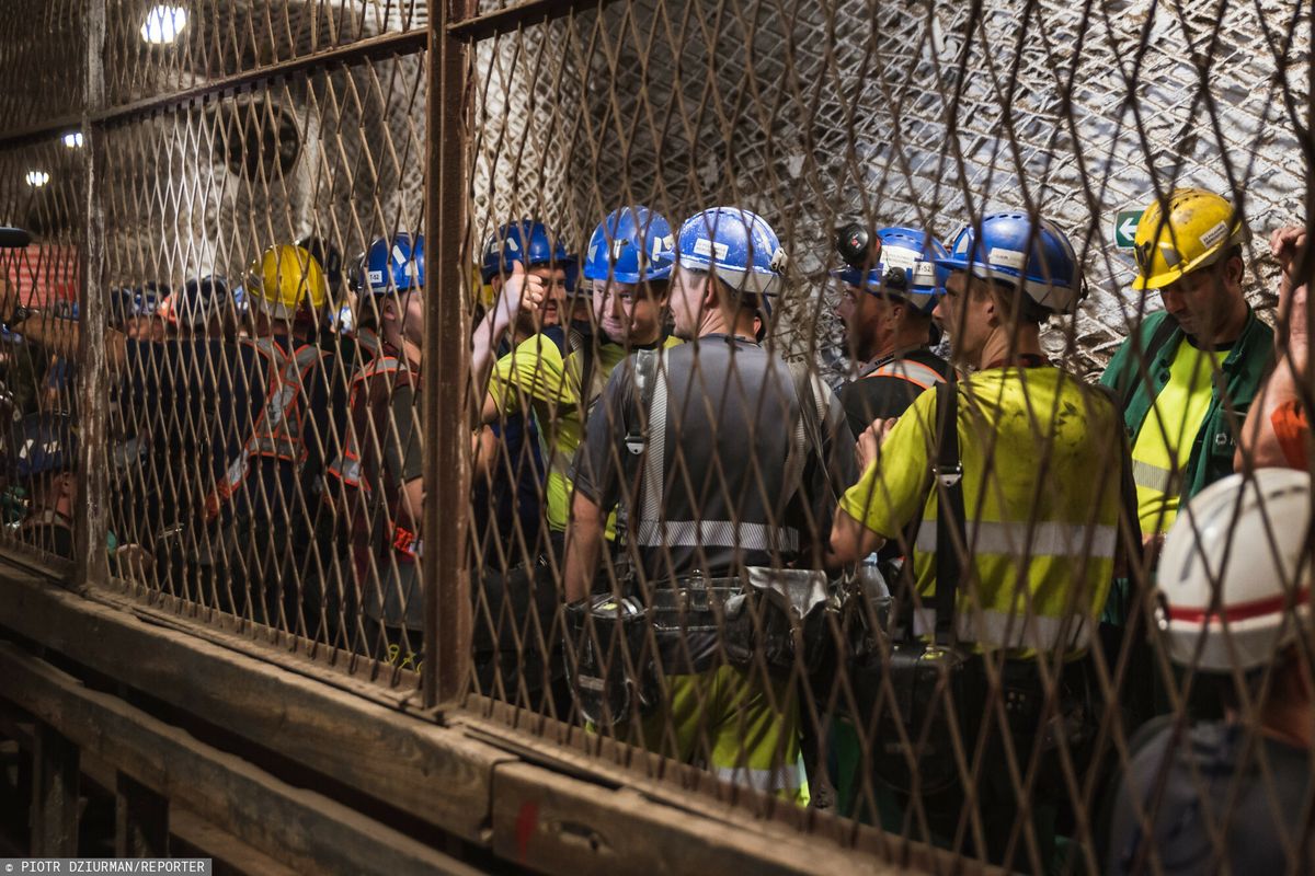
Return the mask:
{"type": "Polygon", "coordinates": [[[1137,222],[1134,289],[1162,289],[1251,240],[1232,205],[1214,192],[1174,189],[1168,206],[1166,218],[1164,204],[1155,201],[1137,222]]]}

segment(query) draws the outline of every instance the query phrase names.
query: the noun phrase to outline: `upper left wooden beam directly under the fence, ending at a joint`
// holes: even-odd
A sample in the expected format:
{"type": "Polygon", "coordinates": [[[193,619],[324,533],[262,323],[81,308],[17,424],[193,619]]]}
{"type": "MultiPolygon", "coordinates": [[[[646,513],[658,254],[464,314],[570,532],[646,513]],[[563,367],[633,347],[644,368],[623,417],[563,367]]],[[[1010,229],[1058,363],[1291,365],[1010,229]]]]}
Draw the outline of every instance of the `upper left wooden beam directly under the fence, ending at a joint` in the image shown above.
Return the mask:
{"type": "Polygon", "coordinates": [[[514,759],[493,746],[32,580],[0,587],[0,626],[487,844],[492,770],[514,759]]]}

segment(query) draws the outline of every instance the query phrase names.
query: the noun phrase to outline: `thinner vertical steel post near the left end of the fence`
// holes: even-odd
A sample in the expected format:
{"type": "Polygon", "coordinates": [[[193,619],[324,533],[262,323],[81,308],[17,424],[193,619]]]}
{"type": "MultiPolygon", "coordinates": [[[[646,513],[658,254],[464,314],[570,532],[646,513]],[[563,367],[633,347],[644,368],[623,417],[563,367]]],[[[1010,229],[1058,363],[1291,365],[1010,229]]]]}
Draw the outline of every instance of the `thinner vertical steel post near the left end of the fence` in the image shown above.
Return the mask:
{"type": "Polygon", "coordinates": [[[80,313],[78,349],[78,401],[82,429],[78,460],[79,495],[74,507],[76,532],[74,583],[85,588],[88,582],[104,582],[109,575],[105,556],[107,496],[105,469],[109,431],[105,399],[109,382],[105,374],[105,217],[101,206],[103,146],[92,126],[92,114],[105,105],[105,0],[87,0],[87,81],[83,100],[83,168],[85,189],[85,223],[82,246],[82,289],[78,292],[80,313]]]}

